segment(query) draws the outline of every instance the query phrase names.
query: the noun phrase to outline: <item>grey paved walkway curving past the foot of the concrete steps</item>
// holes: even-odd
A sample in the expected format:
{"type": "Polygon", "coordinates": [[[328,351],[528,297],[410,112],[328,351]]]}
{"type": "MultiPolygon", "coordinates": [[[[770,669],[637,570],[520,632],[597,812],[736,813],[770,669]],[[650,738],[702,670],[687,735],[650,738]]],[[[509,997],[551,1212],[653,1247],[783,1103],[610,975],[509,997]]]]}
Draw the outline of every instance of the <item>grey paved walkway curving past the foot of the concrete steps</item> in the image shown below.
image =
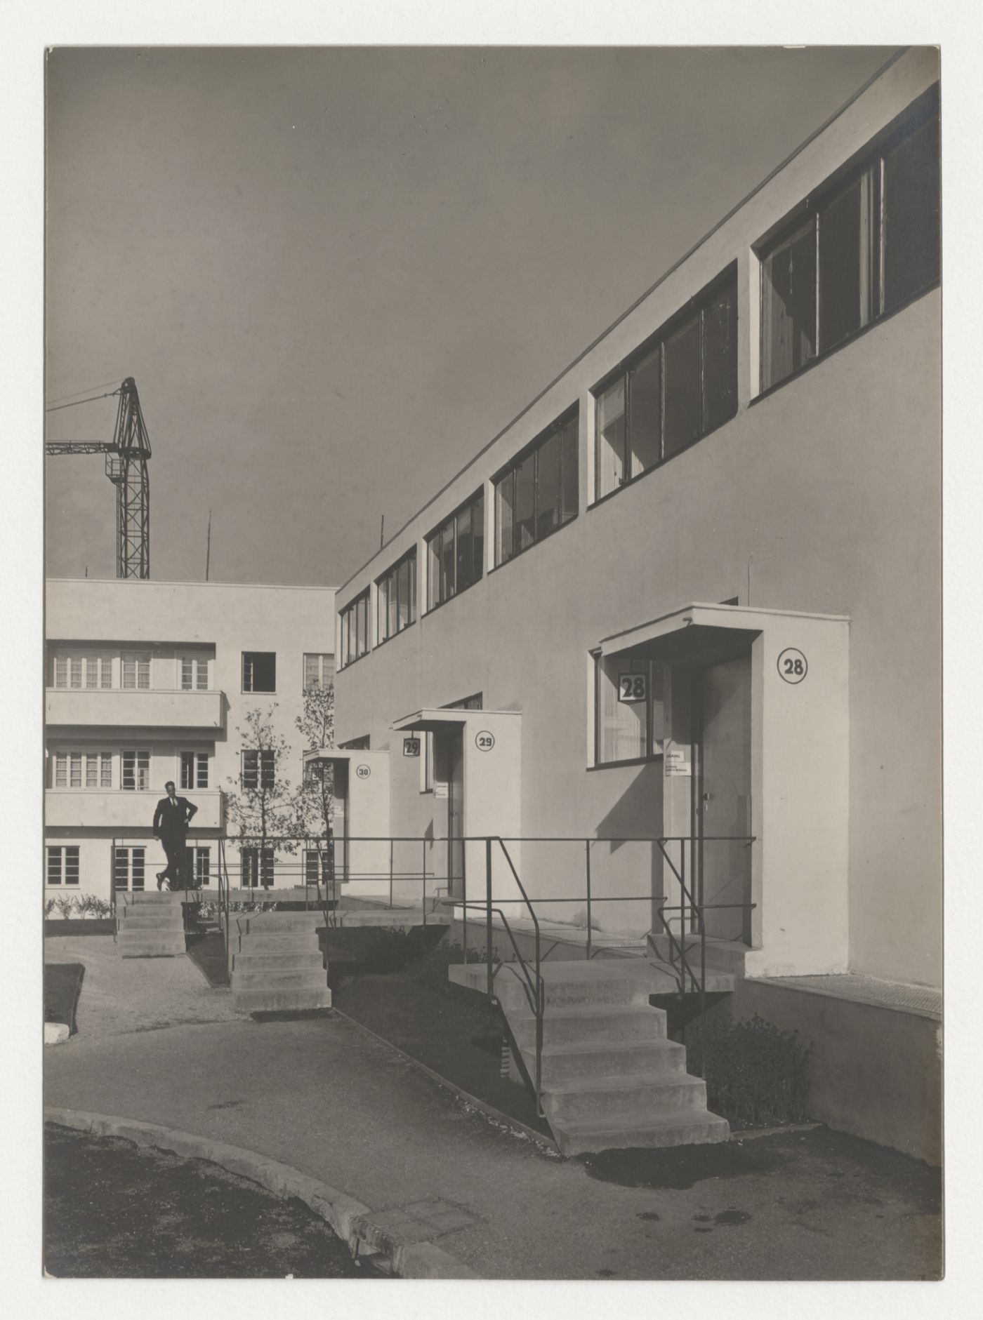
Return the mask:
{"type": "MultiPolygon", "coordinates": [[[[135,998],[157,1014],[173,1002],[197,1024],[120,1026],[129,1011],[90,997],[111,970],[95,972],[83,942],[61,941],[87,972],[79,1035],[45,1053],[46,1105],[248,1147],[377,1217],[388,1212],[394,1225],[407,1222],[406,1206],[451,1203],[461,1214],[437,1242],[486,1278],[889,1279],[917,1278],[937,1261],[937,1216],[902,1180],[872,1183],[850,1148],[830,1167],[807,1144],[795,1154],[805,1135],[765,1138],[735,1151],[736,1172],[686,1189],[600,1181],[495,1127],[342,1016],[230,1020],[219,1007],[227,991],[192,993],[193,978],[203,983],[193,966],[137,965],[145,985],[135,998]]],[[[129,985],[128,968],[122,975],[129,985]]]]}

